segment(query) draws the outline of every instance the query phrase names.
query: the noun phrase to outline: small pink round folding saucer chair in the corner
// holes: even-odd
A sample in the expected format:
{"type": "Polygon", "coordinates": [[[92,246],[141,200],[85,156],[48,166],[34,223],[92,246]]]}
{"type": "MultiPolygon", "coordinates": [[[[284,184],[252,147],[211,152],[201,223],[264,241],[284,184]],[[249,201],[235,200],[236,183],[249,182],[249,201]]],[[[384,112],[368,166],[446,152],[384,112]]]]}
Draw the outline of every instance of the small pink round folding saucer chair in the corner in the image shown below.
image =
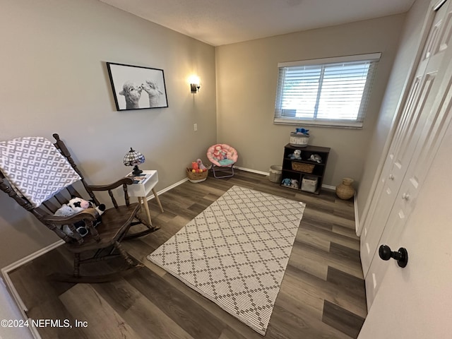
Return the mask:
{"type": "Polygon", "coordinates": [[[212,162],[213,177],[229,178],[234,175],[234,164],[239,154],[226,143],[217,143],[207,150],[207,158],[212,162]]]}

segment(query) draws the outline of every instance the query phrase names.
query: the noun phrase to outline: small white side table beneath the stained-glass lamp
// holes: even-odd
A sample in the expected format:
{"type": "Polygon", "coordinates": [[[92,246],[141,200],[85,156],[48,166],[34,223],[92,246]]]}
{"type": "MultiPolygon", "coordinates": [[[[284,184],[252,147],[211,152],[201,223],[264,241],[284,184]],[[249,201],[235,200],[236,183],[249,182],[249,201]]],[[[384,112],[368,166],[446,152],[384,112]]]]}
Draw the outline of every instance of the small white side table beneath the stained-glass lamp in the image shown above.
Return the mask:
{"type": "Polygon", "coordinates": [[[150,220],[150,212],[147,199],[147,196],[150,193],[150,191],[153,191],[155,200],[157,201],[160,210],[163,212],[162,203],[160,203],[160,199],[158,198],[154,189],[155,185],[158,182],[157,171],[143,170],[143,173],[141,173],[138,177],[134,177],[132,172],[130,172],[129,174],[127,174],[127,177],[133,177],[133,184],[129,186],[127,189],[127,191],[129,192],[129,196],[138,197],[138,202],[144,206],[146,216],[148,217],[149,225],[152,225],[152,222],[150,220]]]}

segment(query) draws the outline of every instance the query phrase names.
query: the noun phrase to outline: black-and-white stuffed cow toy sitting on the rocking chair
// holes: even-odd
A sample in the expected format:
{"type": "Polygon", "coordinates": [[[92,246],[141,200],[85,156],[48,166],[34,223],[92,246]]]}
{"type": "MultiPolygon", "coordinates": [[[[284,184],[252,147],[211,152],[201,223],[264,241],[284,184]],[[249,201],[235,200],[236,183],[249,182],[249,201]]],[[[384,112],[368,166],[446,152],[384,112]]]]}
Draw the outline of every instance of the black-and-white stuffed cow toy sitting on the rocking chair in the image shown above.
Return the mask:
{"type": "MultiPolygon", "coordinates": [[[[95,208],[97,213],[99,214],[99,217],[95,220],[94,226],[97,226],[101,222],[100,215],[104,213],[105,211],[105,205],[101,203],[99,206],[95,206],[95,204],[92,201],[87,201],[82,198],[78,198],[73,196],[71,200],[66,204],[63,204],[55,213],[54,215],[57,215],[59,217],[70,217],[71,215],[74,215],[76,213],[81,212],[82,210],[85,210],[86,208],[95,208]]],[[[75,222],[74,227],[76,227],[76,231],[78,234],[81,235],[81,237],[85,237],[86,234],[88,234],[88,228],[85,225],[85,222],[83,220],[75,222]]],[[[63,225],[61,227],[61,230],[68,234],[69,237],[73,237],[73,232],[69,228],[69,225],[63,225]]]]}

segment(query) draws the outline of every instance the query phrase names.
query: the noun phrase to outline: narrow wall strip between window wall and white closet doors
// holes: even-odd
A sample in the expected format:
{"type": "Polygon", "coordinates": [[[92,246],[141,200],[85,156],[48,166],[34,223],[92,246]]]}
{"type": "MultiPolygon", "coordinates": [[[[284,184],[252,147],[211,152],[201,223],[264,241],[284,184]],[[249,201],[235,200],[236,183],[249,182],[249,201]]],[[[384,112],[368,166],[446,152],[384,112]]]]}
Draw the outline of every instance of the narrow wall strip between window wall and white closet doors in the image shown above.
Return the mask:
{"type": "MultiPolygon", "coordinates": [[[[405,19],[399,49],[381,104],[379,120],[369,144],[369,153],[367,154],[360,180],[361,184],[357,198],[359,216],[362,216],[364,210],[369,207],[374,192],[372,185],[376,185],[379,171],[381,170],[379,162],[386,158],[386,148],[391,142],[391,129],[396,126],[398,121],[396,114],[399,109],[403,108],[403,90],[407,86],[410,69],[412,69],[412,65],[415,62],[417,49],[422,38],[422,25],[424,25],[424,17],[425,13],[427,13],[429,2],[429,0],[415,1],[405,19]]],[[[362,223],[364,220],[359,218],[359,222],[362,223]]]]}

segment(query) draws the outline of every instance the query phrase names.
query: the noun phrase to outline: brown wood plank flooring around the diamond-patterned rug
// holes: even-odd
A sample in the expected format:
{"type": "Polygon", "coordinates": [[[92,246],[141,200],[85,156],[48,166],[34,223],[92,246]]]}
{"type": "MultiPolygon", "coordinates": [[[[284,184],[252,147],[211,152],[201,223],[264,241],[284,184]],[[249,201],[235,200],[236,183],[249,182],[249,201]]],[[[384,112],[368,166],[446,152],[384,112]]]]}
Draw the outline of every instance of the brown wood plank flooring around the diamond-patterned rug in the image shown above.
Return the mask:
{"type": "MultiPolygon", "coordinates": [[[[52,272],[71,272],[72,258],[63,247],[9,273],[30,318],[69,319],[73,326],[38,328],[42,338],[357,338],[367,308],[352,201],[331,191],[316,196],[283,188],[239,170],[229,179],[185,182],[160,195],[160,201],[165,213],[155,200],[149,202],[160,230],[123,242],[145,267],[120,280],[49,280],[52,272]],[[265,337],[146,259],[233,185],[307,204],[265,337]]],[[[82,270],[107,272],[120,264],[95,263],[82,270]]]]}

